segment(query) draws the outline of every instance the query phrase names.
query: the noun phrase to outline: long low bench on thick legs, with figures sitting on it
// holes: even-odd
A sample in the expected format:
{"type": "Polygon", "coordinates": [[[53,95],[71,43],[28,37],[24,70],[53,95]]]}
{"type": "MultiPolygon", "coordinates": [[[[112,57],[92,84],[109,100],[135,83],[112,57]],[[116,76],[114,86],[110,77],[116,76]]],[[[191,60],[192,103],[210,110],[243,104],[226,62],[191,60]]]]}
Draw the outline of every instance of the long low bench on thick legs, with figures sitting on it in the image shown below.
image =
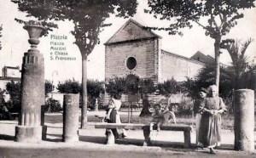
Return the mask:
{"type": "MultiPolygon", "coordinates": [[[[144,143],[143,146],[151,145],[151,135],[150,135],[150,127],[146,124],[131,124],[131,123],[97,123],[95,124],[95,128],[125,128],[125,129],[143,129],[144,135],[144,143]]],[[[191,130],[192,127],[189,125],[168,125],[160,127],[160,130],[167,130],[167,131],[183,131],[184,136],[184,147],[189,148],[191,146],[191,130]]],[[[115,139],[111,130],[107,131],[107,144],[114,144],[115,139]]]]}

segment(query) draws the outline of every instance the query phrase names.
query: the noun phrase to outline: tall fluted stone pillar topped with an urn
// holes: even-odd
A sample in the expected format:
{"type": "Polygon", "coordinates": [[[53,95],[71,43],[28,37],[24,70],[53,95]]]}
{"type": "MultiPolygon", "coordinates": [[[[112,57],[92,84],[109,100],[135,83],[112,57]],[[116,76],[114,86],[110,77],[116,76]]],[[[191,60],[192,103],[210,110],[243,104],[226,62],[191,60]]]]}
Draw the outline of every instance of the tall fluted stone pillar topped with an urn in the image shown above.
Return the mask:
{"type": "Polygon", "coordinates": [[[21,69],[21,111],[15,127],[17,142],[38,143],[42,140],[41,106],[44,105],[44,56],[39,53],[38,38],[45,28],[35,21],[24,26],[31,49],[23,56],[21,69]]]}

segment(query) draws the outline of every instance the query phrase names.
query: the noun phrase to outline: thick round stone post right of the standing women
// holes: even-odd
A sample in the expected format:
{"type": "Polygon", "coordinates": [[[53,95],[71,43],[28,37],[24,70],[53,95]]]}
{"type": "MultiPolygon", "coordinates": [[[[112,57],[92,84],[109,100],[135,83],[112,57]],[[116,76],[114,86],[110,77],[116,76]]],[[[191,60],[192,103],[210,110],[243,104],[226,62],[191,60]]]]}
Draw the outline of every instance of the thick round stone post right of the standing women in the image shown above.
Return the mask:
{"type": "Polygon", "coordinates": [[[235,91],[235,150],[254,150],[254,92],[235,91]]]}

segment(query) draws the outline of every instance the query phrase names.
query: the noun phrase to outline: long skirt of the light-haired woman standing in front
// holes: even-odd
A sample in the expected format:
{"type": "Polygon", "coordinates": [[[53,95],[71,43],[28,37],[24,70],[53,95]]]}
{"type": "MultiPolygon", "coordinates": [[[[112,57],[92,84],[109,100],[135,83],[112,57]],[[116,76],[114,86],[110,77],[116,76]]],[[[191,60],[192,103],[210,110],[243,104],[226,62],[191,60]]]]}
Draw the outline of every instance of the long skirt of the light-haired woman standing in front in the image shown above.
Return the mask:
{"type": "Polygon", "coordinates": [[[214,147],[220,143],[221,116],[212,116],[208,113],[201,115],[201,126],[198,141],[204,147],[214,147]]]}

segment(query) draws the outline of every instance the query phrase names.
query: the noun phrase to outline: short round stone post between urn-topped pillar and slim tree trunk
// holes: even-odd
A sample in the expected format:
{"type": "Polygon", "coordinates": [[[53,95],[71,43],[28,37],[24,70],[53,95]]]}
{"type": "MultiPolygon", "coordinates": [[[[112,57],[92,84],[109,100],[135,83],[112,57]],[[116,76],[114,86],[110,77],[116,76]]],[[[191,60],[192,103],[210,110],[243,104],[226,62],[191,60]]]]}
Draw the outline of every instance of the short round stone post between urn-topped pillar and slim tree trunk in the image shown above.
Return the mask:
{"type": "Polygon", "coordinates": [[[79,141],[79,94],[64,95],[63,141],[79,141]]]}

